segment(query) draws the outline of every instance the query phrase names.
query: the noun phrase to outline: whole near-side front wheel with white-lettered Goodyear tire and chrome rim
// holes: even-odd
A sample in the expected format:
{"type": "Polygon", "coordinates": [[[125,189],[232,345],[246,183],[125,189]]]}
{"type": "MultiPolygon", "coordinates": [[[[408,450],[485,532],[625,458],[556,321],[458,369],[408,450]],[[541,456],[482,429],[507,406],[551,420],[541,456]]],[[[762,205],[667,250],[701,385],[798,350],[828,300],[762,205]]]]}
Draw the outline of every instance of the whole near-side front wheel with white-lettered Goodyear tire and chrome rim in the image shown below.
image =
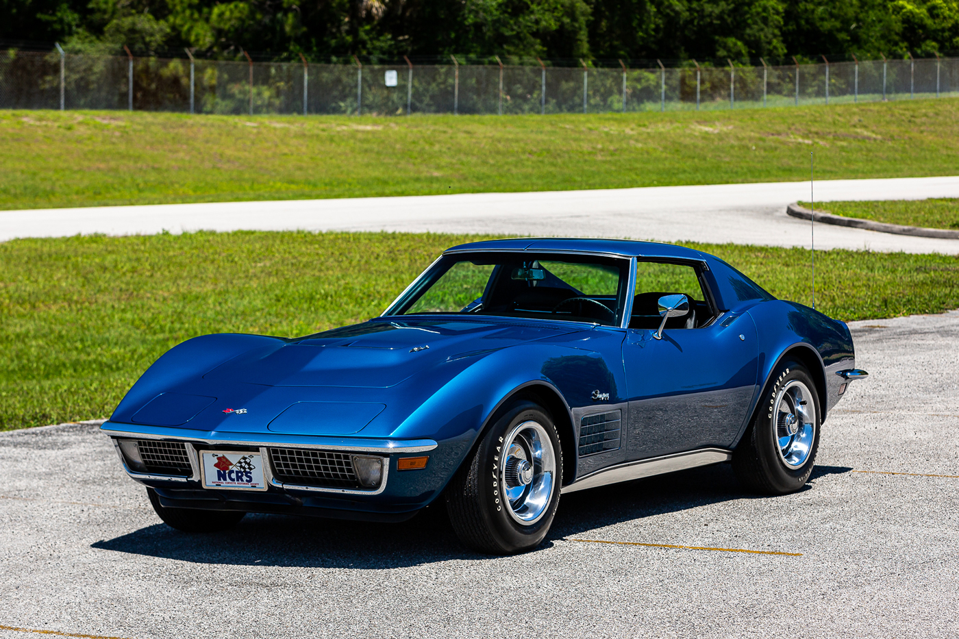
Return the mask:
{"type": "Polygon", "coordinates": [[[559,505],[562,468],[550,414],[529,401],[510,404],[447,489],[459,540],[491,555],[538,546],[559,505]]]}

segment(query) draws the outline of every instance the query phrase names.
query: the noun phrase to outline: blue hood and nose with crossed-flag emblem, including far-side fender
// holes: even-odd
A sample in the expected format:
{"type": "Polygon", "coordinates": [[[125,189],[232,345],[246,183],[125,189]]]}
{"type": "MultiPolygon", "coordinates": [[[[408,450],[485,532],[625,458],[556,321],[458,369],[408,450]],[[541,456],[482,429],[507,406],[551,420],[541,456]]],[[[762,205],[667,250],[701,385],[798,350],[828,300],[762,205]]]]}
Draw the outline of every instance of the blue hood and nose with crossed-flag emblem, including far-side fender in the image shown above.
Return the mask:
{"type": "Polygon", "coordinates": [[[111,421],[351,435],[373,421],[400,424],[486,353],[591,328],[503,319],[374,319],[297,340],[207,336],[164,355],[111,421]],[[208,362],[221,348],[230,348],[233,357],[204,363],[203,357],[208,362]]]}

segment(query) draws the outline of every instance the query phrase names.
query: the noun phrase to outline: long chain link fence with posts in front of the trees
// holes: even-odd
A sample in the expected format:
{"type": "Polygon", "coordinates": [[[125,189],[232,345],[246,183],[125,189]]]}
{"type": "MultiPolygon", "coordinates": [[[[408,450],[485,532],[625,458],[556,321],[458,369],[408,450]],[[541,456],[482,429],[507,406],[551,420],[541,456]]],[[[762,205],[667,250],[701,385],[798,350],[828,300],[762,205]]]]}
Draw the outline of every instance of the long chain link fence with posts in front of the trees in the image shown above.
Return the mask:
{"type": "Polygon", "coordinates": [[[959,96],[959,58],[596,68],[321,64],[0,51],[0,108],[605,113],[959,96]]]}

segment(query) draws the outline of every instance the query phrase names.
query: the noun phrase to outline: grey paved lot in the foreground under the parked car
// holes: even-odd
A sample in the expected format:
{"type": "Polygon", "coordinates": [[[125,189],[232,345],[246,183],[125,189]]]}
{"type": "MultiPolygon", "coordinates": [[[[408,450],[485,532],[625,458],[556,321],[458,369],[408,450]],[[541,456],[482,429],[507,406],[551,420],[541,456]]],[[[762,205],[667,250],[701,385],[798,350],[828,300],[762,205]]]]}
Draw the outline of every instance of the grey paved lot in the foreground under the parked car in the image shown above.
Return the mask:
{"type": "Polygon", "coordinates": [[[392,526],[257,515],[192,536],[159,522],[94,427],[2,434],[0,626],[134,638],[955,637],[959,312],[853,330],[872,377],[830,414],[806,490],[749,495],[722,464],[573,493],[548,542],[522,556],[466,553],[430,513],[392,526]]]}

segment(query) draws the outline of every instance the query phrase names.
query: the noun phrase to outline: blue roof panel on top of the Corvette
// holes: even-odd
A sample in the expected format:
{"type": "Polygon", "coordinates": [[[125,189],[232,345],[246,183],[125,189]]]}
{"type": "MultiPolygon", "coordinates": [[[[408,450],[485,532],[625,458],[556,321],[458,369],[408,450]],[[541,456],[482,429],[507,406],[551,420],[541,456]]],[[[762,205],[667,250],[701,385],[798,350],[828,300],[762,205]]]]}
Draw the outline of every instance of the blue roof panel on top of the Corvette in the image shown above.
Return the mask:
{"type": "Polygon", "coordinates": [[[672,257],[705,260],[707,253],[673,244],[638,242],[636,240],[607,240],[602,238],[526,237],[508,240],[470,242],[446,249],[445,252],[470,250],[569,250],[576,252],[621,255],[622,257],[672,257]]]}

